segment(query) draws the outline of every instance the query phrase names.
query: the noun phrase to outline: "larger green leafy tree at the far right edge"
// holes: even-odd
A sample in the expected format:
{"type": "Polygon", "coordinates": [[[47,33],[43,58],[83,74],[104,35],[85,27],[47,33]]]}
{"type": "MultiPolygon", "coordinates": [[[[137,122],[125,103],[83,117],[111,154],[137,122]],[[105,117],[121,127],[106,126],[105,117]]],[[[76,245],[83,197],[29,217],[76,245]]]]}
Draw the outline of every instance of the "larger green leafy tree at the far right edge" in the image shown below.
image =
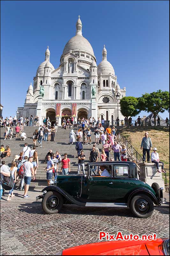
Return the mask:
{"type": "Polygon", "coordinates": [[[154,126],[156,127],[156,116],[158,113],[169,112],[169,92],[158,90],[157,92],[145,93],[138,98],[138,109],[147,113],[153,113],[154,126]]]}

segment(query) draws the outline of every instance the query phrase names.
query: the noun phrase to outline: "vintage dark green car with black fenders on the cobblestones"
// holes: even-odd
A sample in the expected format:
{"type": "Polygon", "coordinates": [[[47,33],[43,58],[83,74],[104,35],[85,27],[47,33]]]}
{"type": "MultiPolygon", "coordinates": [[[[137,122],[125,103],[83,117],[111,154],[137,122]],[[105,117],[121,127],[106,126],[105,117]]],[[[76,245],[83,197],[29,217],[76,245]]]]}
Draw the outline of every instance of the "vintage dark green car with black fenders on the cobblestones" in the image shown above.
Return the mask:
{"type": "Polygon", "coordinates": [[[87,175],[57,175],[50,186],[44,188],[42,208],[58,213],[63,204],[94,207],[126,207],[139,218],[152,215],[154,204],[166,202],[163,188],[152,187],[137,178],[133,162],[95,162],[87,164],[87,175]],[[101,173],[102,170],[103,172],[101,173]],[[109,176],[103,176],[107,173],[109,176]]]}

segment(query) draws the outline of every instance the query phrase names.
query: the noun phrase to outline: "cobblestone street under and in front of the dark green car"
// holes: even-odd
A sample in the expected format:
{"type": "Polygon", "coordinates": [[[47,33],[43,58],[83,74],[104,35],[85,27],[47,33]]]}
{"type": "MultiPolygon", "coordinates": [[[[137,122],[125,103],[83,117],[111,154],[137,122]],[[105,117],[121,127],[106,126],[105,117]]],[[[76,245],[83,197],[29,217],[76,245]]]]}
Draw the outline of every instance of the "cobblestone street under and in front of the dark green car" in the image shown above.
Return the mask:
{"type": "Polygon", "coordinates": [[[71,246],[99,242],[99,231],[169,237],[169,208],[155,207],[148,219],[129,209],[63,206],[45,214],[41,203],[1,203],[1,255],[55,255],[71,246]]]}

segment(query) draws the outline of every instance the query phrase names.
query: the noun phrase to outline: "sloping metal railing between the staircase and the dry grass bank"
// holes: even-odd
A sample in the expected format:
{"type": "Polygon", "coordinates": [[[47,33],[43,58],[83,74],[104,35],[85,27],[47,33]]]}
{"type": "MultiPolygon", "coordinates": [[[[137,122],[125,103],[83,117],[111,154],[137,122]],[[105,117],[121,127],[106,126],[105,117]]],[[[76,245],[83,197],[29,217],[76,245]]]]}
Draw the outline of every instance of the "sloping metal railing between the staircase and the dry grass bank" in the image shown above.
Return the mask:
{"type": "Polygon", "coordinates": [[[117,135],[117,141],[120,142],[121,145],[125,144],[129,160],[136,161],[137,167],[139,168],[138,163],[142,162],[142,156],[121,133],[117,135]]]}

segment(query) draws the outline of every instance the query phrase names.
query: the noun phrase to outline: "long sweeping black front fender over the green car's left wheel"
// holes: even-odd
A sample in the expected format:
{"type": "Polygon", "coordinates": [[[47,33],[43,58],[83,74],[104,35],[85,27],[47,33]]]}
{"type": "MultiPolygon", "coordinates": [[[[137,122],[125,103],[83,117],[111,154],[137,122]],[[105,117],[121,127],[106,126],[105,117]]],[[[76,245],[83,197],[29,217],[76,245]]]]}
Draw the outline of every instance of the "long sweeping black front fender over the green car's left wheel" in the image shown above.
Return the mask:
{"type": "Polygon", "coordinates": [[[85,206],[85,204],[86,204],[86,203],[79,202],[74,197],[70,196],[69,193],[67,193],[64,189],[59,188],[57,186],[47,186],[46,188],[43,188],[41,192],[44,192],[45,190],[47,192],[52,191],[52,190],[57,191],[62,196],[64,196],[67,200],[69,200],[72,204],[77,204],[77,205],[80,205],[80,206],[85,206]]]}

